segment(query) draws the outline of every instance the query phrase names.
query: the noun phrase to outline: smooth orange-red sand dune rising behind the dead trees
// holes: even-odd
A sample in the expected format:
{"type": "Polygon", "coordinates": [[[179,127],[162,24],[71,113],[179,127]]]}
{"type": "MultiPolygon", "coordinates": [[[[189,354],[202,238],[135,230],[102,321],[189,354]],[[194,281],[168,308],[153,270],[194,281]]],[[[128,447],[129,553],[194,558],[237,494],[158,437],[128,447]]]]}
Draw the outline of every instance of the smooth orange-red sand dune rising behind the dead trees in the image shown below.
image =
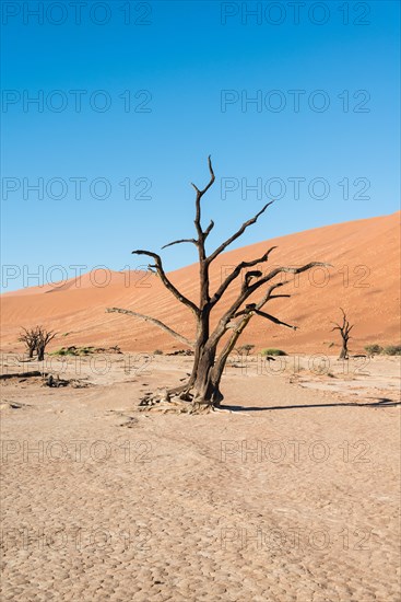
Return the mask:
{"type": "MultiPolygon", "coordinates": [[[[339,335],[331,333],[331,321],[339,321],[342,306],[352,323],[351,350],[361,351],[367,343],[399,343],[400,306],[400,212],[358,220],[252,244],[229,251],[212,265],[211,288],[240,261],[256,258],[278,245],[266,271],[278,265],[302,265],[322,261],[333,267],[302,274],[285,287],[291,299],[273,300],[267,311],[299,326],[294,332],[260,317],[253,317],[240,341],[278,347],[290,352],[337,352],[339,335]],[[331,341],[335,347],[330,347],[331,341]]],[[[253,268],[255,269],[255,268],[253,268]]],[[[98,280],[102,274],[98,274],[98,280]]],[[[104,276],[104,275],[103,275],[104,276]]],[[[191,265],[169,274],[187,297],[197,301],[198,267],[191,265]]],[[[287,276],[287,278],[293,278],[287,276]]],[[[214,320],[226,309],[236,286],[217,303],[214,320]]],[[[21,326],[42,324],[59,336],[49,350],[67,345],[119,345],[122,350],[170,350],[182,345],[153,325],[130,316],[105,313],[107,306],[132,309],[158,317],[174,329],[193,336],[193,320],[161,285],[154,275],[138,271],[111,273],[105,287],[96,286],[93,275],[83,275],[59,287],[32,287],[1,296],[2,351],[23,350],[17,343],[21,326]],[[61,336],[69,333],[67,336],[61,336]]]]}

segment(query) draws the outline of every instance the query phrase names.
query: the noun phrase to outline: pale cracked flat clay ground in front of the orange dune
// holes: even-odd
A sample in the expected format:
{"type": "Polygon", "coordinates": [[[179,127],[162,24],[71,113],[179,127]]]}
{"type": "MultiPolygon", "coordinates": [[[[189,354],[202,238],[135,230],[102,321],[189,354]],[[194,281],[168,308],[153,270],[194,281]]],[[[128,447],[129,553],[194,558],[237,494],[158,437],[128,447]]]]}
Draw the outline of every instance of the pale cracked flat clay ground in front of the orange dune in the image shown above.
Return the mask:
{"type": "Polygon", "coordinates": [[[2,381],[2,599],[396,602],[400,363],[361,361],[234,357],[202,416],[138,410],[190,357],[2,381]]]}

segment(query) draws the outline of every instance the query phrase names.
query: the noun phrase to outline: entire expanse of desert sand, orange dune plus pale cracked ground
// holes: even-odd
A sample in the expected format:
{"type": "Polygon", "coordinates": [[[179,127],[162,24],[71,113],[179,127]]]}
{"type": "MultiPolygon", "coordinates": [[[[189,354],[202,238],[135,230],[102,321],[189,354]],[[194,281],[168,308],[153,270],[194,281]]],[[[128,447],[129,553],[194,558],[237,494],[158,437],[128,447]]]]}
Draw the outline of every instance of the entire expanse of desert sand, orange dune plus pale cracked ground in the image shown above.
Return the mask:
{"type": "MultiPolygon", "coordinates": [[[[3,294],[2,600],[400,600],[400,358],[339,361],[330,333],[341,305],[355,323],[352,352],[398,343],[399,217],[221,257],[214,287],[224,266],[273,244],[270,266],[296,257],[333,267],[325,286],[321,274],[302,277],[292,299],[269,306],[299,331],[251,323],[241,343],[255,354],[229,358],[223,405],[208,415],[139,406],[192,362],[168,356],[182,346],[153,326],[105,313],[134,309],[192,336],[191,316],[156,277],[113,273],[98,287],[84,275],[3,294]],[[150,287],[135,286],[144,278],[150,287]],[[19,332],[38,323],[59,332],[50,351],[123,352],[26,361],[19,332]],[[269,362],[263,347],[288,356],[269,362]],[[46,386],[43,374],[66,386],[46,386]]],[[[170,277],[196,299],[196,266],[170,277]]]]}

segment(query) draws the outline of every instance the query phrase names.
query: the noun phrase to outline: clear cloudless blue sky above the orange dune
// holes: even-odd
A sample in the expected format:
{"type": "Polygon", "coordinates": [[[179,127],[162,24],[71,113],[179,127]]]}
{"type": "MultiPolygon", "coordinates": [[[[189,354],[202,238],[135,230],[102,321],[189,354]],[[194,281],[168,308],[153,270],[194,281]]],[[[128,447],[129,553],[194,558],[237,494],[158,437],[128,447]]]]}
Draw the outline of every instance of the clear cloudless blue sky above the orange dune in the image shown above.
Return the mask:
{"type": "MultiPolygon", "coordinates": [[[[133,269],[133,248],[191,236],[189,183],[207,183],[209,153],[212,245],[280,193],[238,245],[399,209],[399,2],[306,2],[299,23],[288,2],[258,16],[241,2],[87,2],[81,18],[49,4],[2,3],[2,263],[21,270],[3,290],[37,283],[23,266],[133,269]],[[26,13],[38,4],[43,23],[26,13]],[[38,94],[43,106],[27,102],[38,94]],[[27,187],[38,178],[44,198],[27,187]],[[257,182],[262,195],[245,187],[257,182]]],[[[164,257],[196,259],[189,245],[164,257]]]]}

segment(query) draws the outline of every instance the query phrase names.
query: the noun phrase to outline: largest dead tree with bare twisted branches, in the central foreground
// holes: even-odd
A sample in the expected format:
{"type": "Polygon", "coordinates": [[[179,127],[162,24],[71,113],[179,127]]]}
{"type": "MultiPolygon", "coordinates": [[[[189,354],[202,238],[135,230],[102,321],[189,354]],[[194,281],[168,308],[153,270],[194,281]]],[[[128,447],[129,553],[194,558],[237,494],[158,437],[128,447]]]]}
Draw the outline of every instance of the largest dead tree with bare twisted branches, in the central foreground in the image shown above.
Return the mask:
{"type": "MultiPolygon", "coordinates": [[[[266,211],[266,209],[273,202],[267,202],[264,207],[251,219],[243,223],[243,225],[226,241],[224,241],[217,248],[215,248],[210,254],[207,253],[205,241],[214,227],[214,222],[211,221],[209,225],[203,229],[201,224],[201,199],[203,195],[210,189],[215,181],[212,162],[209,157],[209,171],[210,171],[210,181],[208,185],[200,189],[194,184],[192,184],[196,192],[196,215],[194,215],[194,228],[197,236],[193,239],[180,239],[174,242],[170,242],[163,246],[166,248],[168,246],[181,243],[193,244],[198,250],[199,256],[199,302],[194,303],[188,299],[181,291],[179,291],[172,280],[166,275],[162,258],[157,253],[152,251],[137,250],[132,251],[134,255],[145,255],[153,259],[153,264],[149,266],[149,269],[154,270],[157,276],[161,278],[165,288],[178,299],[182,305],[185,305],[193,314],[196,321],[196,339],[191,341],[173,331],[169,326],[161,323],[160,321],[132,312],[130,310],[121,310],[119,308],[108,308],[108,312],[120,312],[126,314],[131,314],[134,317],[140,320],[145,320],[152,322],[156,326],[168,332],[172,336],[186,343],[194,351],[193,357],[193,368],[191,375],[189,377],[188,382],[184,385],[177,386],[176,389],[167,390],[163,395],[154,394],[144,400],[142,400],[143,405],[156,405],[161,401],[170,402],[172,405],[185,405],[190,408],[190,412],[202,412],[209,410],[213,407],[220,405],[223,400],[223,395],[220,391],[220,381],[222,373],[228,358],[228,355],[234,349],[237,344],[237,340],[244,329],[249,324],[250,320],[255,315],[259,315],[274,324],[280,324],[288,328],[296,328],[282,322],[278,317],[263,311],[264,305],[272,299],[290,297],[290,294],[276,294],[275,291],[279,287],[286,285],[285,281],[274,281],[274,278],[283,273],[286,274],[300,274],[306,271],[315,266],[327,266],[320,262],[311,262],[302,267],[278,267],[263,274],[259,269],[252,269],[260,264],[268,262],[270,254],[275,246],[272,246],[263,253],[260,257],[256,257],[251,261],[240,262],[226,278],[221,282],[217,290],[211,292],[210,290],[210,267],[214,259],[221,255],[229,244],[239,239],[249,225],[256,223],[258,218],[266,211]],[[217,305],[219,301],[222,299],[224,293],[227,291],[228,287],[238,278],[243,277],[243,285],[239,289],[236,300],[231,304],[231,306],[221,315],[216,326],[211,332],[211,312],[217,305]],[[262,297],[257,303],[249,303],[248,299],[253,296],[253,293],[263,291],[262,297]],[[222,339],[226,336],[226,340],[223,344],[222,339]],[[219,354],[217,354],[219,348],[219,354]]],[[[182,409],[182,408],[181,408],[182,409]]]]}

